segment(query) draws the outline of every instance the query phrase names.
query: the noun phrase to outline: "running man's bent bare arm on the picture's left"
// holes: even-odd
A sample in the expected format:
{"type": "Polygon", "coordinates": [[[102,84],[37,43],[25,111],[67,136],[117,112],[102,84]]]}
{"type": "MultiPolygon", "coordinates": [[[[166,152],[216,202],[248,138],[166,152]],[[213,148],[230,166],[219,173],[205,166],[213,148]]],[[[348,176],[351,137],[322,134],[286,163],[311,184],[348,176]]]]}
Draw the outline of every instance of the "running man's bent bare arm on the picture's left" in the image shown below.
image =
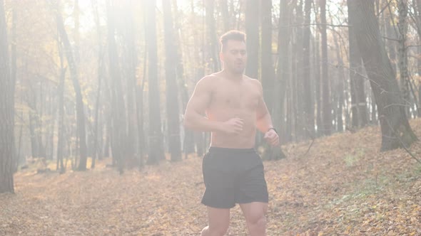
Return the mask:
{"type": "Polygon", "coordinates": [[[211,79],[210,77],[203,77],[197,83],[186,107],[183,122],[184,127],[200,132],[220,131],[221,122],[211,121],[204,116],[212,97],[211,79]]]}

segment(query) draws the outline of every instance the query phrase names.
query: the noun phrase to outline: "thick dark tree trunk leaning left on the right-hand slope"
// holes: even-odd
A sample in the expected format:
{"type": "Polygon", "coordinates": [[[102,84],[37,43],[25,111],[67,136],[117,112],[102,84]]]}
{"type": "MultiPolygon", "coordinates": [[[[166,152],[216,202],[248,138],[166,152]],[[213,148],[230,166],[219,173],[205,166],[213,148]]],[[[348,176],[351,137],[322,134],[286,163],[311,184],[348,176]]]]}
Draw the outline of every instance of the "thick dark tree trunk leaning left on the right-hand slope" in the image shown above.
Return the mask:
{"type": "Polygon", "coordinates": [[[417,136],[407,120],[405,103],[380,36],[374,0],[348,0],[347,3],[350,16],[355,20],[352,27],[355,27],[355,38],[377,104],[382,131],[380,150],[409,146],[417,136]]]}

